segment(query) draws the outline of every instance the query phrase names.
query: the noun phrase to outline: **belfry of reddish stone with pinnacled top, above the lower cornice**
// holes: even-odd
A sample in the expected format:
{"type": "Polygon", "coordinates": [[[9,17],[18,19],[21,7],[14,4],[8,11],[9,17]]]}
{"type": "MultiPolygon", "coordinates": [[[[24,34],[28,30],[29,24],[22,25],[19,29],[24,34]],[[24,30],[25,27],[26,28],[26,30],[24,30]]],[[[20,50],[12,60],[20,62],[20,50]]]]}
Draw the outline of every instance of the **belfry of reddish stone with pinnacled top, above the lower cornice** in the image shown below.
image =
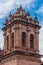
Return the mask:
{"type": "Polygon", "coordinates": [[[22,7],[17,9],[14,16],[9,15],[4,27],[4,51],[21,50],[39,52],[39,23],[37,17],[34,21],[22,7]]]}

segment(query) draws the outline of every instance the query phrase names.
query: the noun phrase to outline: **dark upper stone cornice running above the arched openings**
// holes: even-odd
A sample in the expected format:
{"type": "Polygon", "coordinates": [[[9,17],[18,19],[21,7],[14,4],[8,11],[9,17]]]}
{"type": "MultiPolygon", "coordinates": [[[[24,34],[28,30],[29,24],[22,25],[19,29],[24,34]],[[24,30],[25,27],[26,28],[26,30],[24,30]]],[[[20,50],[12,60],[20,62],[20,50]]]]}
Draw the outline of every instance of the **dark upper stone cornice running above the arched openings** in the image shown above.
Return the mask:
{"type": "Polygon", "coordinates": [[[3,31],[6,30],[7,28],[11,27],[12,25],[14,25],[14,24],[16,24],[16,23],[18,23],[18,24],[23,24],[23,25],[26,25],[26,26],[31,26],[31,27],[34,27],[34,28],[39,28],[39,29],[41,28],[41,26],[35,25],[35,24],[31,23],[31,22],[18,21],[18,20],[16,20],[16,21],[11,22],[11,23],[8,24],[7,26],[5,26],[2,30],[3,30],[3,31]]]}

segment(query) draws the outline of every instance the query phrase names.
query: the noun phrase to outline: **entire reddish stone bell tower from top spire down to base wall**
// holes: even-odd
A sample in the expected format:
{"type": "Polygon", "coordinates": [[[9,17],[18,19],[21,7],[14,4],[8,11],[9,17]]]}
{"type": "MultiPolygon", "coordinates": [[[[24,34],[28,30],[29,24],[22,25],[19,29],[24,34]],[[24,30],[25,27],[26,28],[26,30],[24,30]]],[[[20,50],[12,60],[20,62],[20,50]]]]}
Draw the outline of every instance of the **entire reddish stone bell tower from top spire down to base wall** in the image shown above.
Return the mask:
{"type": "Polygon", "coordinates": [[[12,15],[10,13],[3,28],[4,31],[4,65],[40,65],[39,22],[22,6],[12,15]]]}

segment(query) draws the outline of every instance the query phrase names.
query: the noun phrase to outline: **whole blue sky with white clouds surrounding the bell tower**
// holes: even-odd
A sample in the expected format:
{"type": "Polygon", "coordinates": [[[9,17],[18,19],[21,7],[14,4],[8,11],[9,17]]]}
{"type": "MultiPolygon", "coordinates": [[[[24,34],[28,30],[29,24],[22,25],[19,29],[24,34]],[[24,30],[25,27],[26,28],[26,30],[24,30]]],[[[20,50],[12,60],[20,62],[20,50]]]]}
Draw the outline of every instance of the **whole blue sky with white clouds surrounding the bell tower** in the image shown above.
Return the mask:
{"type": "Polygon", "coordinates": [[[9,13],[14,14],[17,8],[22,5],[26,12],[30,13],[30,16],[34,19],[37,15],[39,24],[41,25],[39,35],[39,50],[40,54],[43,54],[43,0],[0,0],[0,48],[3,48],[3,31],[6,17],[9,13]]]}

